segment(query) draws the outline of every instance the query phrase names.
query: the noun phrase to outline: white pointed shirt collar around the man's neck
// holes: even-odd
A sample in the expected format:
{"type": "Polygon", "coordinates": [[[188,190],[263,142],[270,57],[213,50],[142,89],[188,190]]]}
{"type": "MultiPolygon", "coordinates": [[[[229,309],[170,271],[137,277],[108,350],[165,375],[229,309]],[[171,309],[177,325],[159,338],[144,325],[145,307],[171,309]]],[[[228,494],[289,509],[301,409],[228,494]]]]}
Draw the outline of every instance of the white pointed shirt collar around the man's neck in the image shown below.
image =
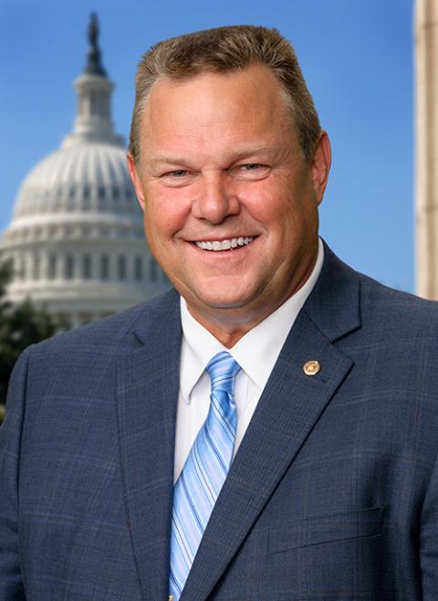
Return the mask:
{"type": "Polygon", "coordinates": [[[255,328],[243,336],[235,346],[227,349],[214,336],[197,322],[181,298],[181,320],[183,325],[183,344],[180,367],[180,387],[185,403],[190,403],[193,386],[205,371],[210,359],[216,353],[228,351],[235,358],[260,392],[265,388],[276,359],[287,339],[297,314],[306,302],[315,286],[324,260],[324,247],[318,239],[318,257],[309,278],[276,311],[258,323],[255,328]]]}

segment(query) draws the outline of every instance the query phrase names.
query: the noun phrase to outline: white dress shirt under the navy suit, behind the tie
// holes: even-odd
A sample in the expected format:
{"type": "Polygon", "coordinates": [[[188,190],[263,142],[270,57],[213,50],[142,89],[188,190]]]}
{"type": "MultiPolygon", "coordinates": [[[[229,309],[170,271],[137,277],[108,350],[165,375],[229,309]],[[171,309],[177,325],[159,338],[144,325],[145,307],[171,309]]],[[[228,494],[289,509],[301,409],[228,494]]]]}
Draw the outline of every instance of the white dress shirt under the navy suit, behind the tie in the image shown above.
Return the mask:
{"type": "Polygon", "coordinates": [[[317,261],[306,283],[263,322],[247,332],[231,349],[227,349],[192,317],[186,302],[181,298],[183,342],[176,416],[175,482],[208,414],[210,377],[205,372],[208,362],[216,353],[227,351],[242,368],[235,377],[236,452],[287,334],[318,279],[323,259],[324,248],[319,239],[317,261]]]}

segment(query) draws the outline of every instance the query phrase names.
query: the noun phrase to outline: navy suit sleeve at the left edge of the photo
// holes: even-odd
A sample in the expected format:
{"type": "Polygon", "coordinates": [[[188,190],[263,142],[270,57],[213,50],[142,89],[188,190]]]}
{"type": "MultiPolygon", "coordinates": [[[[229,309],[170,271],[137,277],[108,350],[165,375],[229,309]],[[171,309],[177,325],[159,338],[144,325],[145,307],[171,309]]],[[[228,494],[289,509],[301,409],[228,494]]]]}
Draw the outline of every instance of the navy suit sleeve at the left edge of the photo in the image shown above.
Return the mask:
{"type": "Polygon", "coordinates": [[[0,599],[26,601],[18,543],[18,469],[29,349],[17,361],[0,427],[0,599]]]}

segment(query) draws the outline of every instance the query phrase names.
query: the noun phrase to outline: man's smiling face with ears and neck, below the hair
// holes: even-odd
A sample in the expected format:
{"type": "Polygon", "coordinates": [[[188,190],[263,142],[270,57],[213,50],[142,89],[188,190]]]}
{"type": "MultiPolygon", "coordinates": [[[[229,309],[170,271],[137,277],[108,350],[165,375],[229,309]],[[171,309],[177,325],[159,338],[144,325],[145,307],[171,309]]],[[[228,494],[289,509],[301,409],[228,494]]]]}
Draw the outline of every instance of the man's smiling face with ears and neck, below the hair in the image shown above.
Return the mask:
{"type": "Polygon", "coordinates": [[[300,288],[328,163],[325,134],[304,161],[263,66],[152,86],[130,172],[151,252],[198,321],[259,322],[300,288]]]}

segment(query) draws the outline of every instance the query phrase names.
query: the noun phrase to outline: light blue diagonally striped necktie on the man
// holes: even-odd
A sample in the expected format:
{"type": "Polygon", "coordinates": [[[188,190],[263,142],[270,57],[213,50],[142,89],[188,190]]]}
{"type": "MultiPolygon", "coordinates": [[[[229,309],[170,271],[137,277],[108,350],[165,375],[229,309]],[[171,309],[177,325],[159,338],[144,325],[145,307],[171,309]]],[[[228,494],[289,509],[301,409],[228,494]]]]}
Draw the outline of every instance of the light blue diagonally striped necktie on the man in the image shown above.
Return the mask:
{"type": "Polygon", "coordinates": [[[178,601],[214,503],[230,469],[237,415],[235,374],[230,353],[217,353],[206,367],[212,381],[210,409],[193,442],[173,491],[170,591],[178,601]]]}

